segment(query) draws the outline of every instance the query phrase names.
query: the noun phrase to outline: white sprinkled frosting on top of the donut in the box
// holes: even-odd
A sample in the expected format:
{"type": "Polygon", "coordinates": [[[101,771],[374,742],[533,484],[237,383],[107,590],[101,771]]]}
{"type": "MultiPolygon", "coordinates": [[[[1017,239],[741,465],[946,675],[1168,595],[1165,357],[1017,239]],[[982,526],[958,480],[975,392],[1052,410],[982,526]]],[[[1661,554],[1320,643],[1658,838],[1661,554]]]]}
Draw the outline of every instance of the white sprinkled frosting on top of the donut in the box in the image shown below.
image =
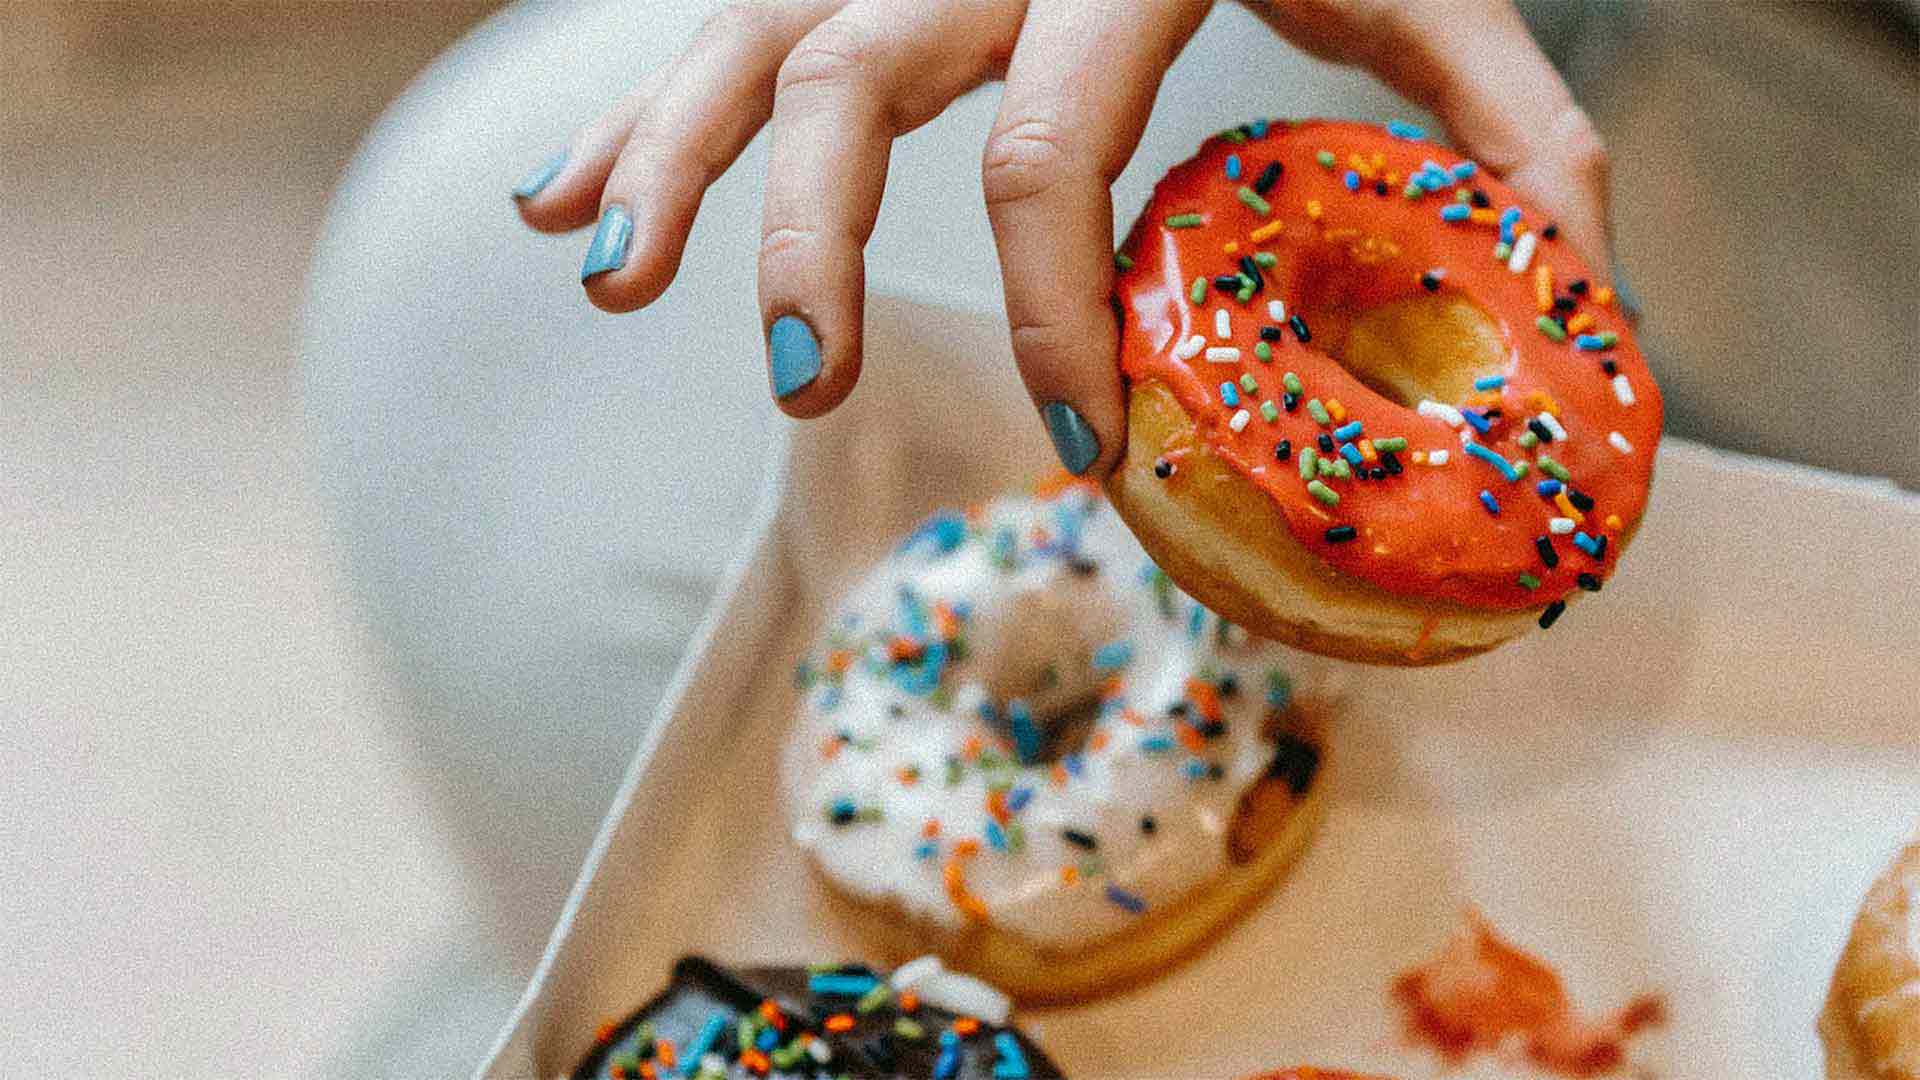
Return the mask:
{"type": "Polygon", "coordinates": [[[935,515],[852,590],[803,663],[785,763],[793,838],[843,890],[914,917],[960,926],[968,915],[948,888],[958,872],[960,899],[977,899],[996,926],[1052,947],[1094,942],[1139,919],[1133,907],[1177,903],[1221,871],[1236,801],[1273,761],[1261,728],[1286,703],[1283,663],[1296,657],[1181,594],[1085,488],[935,515]],[[1100,688],[1075,753],[1021,765],[1006,724],[989,723],[989,678],[1031,657],[985,655],[970,632],[1020,625],[1002,615],[1033,590],[1054,607],[1062,590],[1071,596],[1085,613],[1077,632],[1116,636],[1018,642],[1058,657],[1062,686],[1100,688]],[[952,644],[939,642],[939,605],[958,613],[952,644]],[[925,648],[937,678],[914,648],[889,653],[900,636],[925,648]],[[1089,651],[1091,675],[1075,673],[1089,651]],[[1188,678],[1208,686],[1190,692],[1188,678]],[[1217,724],[1202,717],[1208,698],[1217,724]],[[995,790],[1004,822],[989,811],[995,790]]]}

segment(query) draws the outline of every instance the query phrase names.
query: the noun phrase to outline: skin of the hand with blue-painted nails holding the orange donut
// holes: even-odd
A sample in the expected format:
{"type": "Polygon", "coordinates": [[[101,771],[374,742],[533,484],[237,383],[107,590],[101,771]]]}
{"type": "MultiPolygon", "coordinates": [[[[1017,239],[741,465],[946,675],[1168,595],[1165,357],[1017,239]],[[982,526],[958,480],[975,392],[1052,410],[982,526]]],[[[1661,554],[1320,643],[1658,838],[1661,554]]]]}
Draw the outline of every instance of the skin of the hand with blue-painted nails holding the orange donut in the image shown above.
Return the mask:
{"type": "MultiPolygon", "coordinates": [[[[1363,67],[1432,111],[1453,142],[1551,209],[1607,265],[1607,158],[1509,0],[1246,0],[1298,48],[1363,67]]],[[[981,156],[1014,359],[1035,407],[1092,427],[1104,477],[1125,450],[1112,290],[1110,186],[1139,146],[1167,65],[1210,0],[770,0],[733,4],[693,44],[580,129],[566,167],[520,215],[582,229],[634,217],[618,271],[586,281],[605,311],[672,282],[707,186],[770,127],[760,223],[762,329],[801,315],[822,371],[780,400],[833,409],[860,377],[862,250],[895,138],[1004,79],[981,156]],[[1062,265],[1085,273],[1060,273],[1062,265]]]]}

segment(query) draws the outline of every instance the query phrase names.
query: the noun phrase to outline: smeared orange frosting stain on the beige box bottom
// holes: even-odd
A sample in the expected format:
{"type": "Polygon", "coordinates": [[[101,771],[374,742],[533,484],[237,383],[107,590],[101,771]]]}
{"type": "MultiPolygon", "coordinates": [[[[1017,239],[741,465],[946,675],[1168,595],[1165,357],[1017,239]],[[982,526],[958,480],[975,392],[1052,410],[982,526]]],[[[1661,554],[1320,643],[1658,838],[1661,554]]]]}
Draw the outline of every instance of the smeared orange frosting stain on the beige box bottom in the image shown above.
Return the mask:
{"type": "Polygon", "coordinates": [[[1467,924],[1434,959],[1396,978],[1392,995],[1405,1009],[1407,1038],[1448,1065],[1519,1045],[1530,1063],[1561,1076],[1620,1068],[1634,1032],[1667,1019],[1657,994],[1586,1019],[1559,974],[1503,942],[1478,911],[1467,913],[1467,924]]]}

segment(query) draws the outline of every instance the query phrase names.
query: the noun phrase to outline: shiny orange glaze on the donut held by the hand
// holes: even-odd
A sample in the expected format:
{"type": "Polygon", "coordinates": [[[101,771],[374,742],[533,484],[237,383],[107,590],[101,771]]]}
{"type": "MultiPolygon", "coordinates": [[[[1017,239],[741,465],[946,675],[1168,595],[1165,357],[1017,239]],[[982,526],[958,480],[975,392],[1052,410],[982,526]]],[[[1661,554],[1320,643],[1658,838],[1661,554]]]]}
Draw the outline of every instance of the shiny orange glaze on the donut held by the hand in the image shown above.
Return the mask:
{"type": "MultiPolygon", "coordinates": [[[[1417,200],[1402,194],[1407,177],[1427,160],[1450,171],[1463,161],[1442,146],[1396,138],[1380,127],[1361,123],[1275,121],[1263,136],[1240,144],[1223,136],[1210,138],[1198,156],[1160,181],[1121,246],[1121,254],[1133,259],[1133,267],[1121,271],[1114,286],[1121,311],[1121,371],[1129,382],[1164,382],[1196,421],[1208,448],[1258,484],[1281,509],[1288,530],[1329,565],[1400,596],[1486,609],[1540,607],[1574,590],[1580,573],[1597,578],[1611,573],[1622,546],[1622,528],[1601,528],[1599,523],[1615,515],[1630,530],[1645,509],[1661,432],[1661,396],[1626,319],[1617,307],[1601,304],[1603,298],[1611,300],[1603,279],[1563,240],[1540,238],[1524,273],[1513,273],[1505,259],[1496,261],[1498,223],[1490,217],[1519,206],[1524,213],[1523,229],[1544,231],[1549,219],[1480,169],[1457,186],[1484,190],[1488,211],[1478,215],[1480,221],[1442,221],[1440,209],[1455,200],[1453,183],[1417,200]],[[1334,167],[1323,167],[1315,160],[1321,150],[1332,152],[1334,167]],[[1227,179],[1229,154],[1240,158],[1238,181],[1227,179]],[[1342,177],[1356,154],[1375,177],[1396,179],[1384,196],[1375,194],[1371,181],[1357,194],[1346,190],[1342,177]],[[1371,169],[1375,156],[1384,158],[1379,169],[1371,169]],[[1283,173],[1265,194],[1271,213],[1261,215],[1235,192],[1242,184],[1250,186],[1269,161],[1281,161],[1283,173]],[[1317,215],[1309,204],[1317,204],[1317,215]],[[1165,225],[1169,215],[1181,213],[1200,213],[1204,221],[1188,229],[1165,225]],[[1260,240],[1254,240],[1256,231],[1260,240]],[[1235,254],[1225,250],[1227,244],[1236,244],[1235,254]],[[1236,273],[1240,256],[1254,252],[1277,258],[1263,271],[1263,290],[1240,304],[1213,288],[1213,277],[1236,273]],[[1576,350],[1572,336],[1553,342],[1534,325],[1540,317],[1542,265],[1551,267],[1551,282],[1563,296],[1569,282],[1590,282],[1574,313],[1590,315],[1590,331],[1596,334],[1619,334],[1613,348],[1576,350]],[[1323,354],[1319,340],[1302,344],[1286,331],[1279,342],[1271,342],[1271,363],[1256,359],[1260,329],[1273,325],[1267,317],[1269,300],[1283,300],[1290,315],[1296,300],[1323,296],[1332,275],[1356,306],[1371,307],[1423,294],[1419,279],[1430,269],[1444,271],[1442,294],[1453,292],[1475,302],[1500,323],[1509,344],[1501,371],[1505,386],[1471,396],[1498,398],[1503,411],[1492,430],[1476,440],[1507,461],[1532,463],[1544,452],[1565,465],[1572,475],[1571,486],[1594,500],[1594,511],[1580,528],[1590,536],[1607,534],[1601,559],[1580,552],[1572,536],[1565,534],[1551,538],[1559,565],[1544,565],[1534,538],[1546,536],[1548,519],[1561,511],[1553,500],[1536,494],[1536,484],[1548,479],[1538,465],[1517,482],[1505,480],[1492,465],[1463,452],[1455,429],[1377,394],[1323,354]],[[1196,277],[1208,279],[1208,294],[1200,306],[1188,296],[1196,277]],[[1217,307],[1231,311],[1231,340],[1215,336],[1217,307]],[[1175,346],[1192,334],[1202,334],[1206,348],[1238,348],[1240,359],[1213,363],[1204,352],[1192,359],[1177,359],[1175,346]],[[1601,369],[1603,359],[1611,359],[1626,377],[1634,405],[1620,404],[1613,379],[1601,369]],[[1281,411],[1277,423],[1269,423],[1261,417],[1260,404],[1271,400],[1281,405],[1284,371],[1298,373],[1306,392],[1296,411],[1281,411]],[[1242,373],[1252,373],[1260,390],[1242,392],[1240,407],[1250,411],[1250,421],[1240,432],[1233,432],[1229,421],[1236,409],[1223,405],[1219,384],[1236,382],[1242,373]],[[1338,427],[1313,423],[1308,398],[1338,400],[1350,419],[1365,425],[1371,440],[1405,436],[1407,450],[1400,454],[1405,471],[1384,480],[1327,479],[1340,503],[1329,507],[1317,502],[1300,479],[1298,461],[1275,459],[1279,440],[1290,440],[1298,454],[1300,448],[1315,446],[1321,432],[1338,427]],[[1557,409],[1569,438],[1523,450],[1515,440],[1526,430],[1526,419],[1544,405],[1557,409]],[[1620,432],[1632,452],[1622,454],[1609,444],[1609,432],[1620,432]],[[1450,452],[1450,461],[1438,467],[1413,463],[1413,452],[1432,450],[1450,452]],[[1500,502],[1498,517],[1480,503],[1480,490],[1492,492],[1500,502]],[[1357,540],[1327,542],[1325,532],[1334,525],[1356,527],[1357,540]],[[1519,582],[1523,573],[1536,577],[1540,588],[1524,588],[1519,582]]],[[[1311,336],[1311,323],[1308,331],[1311,336]]],[[[1169,482],[1179,482],[1177,473],[1169,482]]]]}

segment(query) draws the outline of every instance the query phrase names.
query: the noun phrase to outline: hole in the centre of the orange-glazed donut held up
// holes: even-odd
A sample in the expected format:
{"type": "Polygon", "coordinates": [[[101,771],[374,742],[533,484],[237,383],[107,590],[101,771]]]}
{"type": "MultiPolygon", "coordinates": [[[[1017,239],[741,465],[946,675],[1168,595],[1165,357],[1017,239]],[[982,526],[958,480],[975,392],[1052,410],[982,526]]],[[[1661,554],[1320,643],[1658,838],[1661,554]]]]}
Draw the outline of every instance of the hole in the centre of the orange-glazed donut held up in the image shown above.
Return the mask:
{"type": "Polygon", "coordinates": [[[1461,402],[1473,380],[1507,369],[1511,346],[1501,323],[1461,292],[1421,290],[1380,267],[1325,259],[1296,275],[1294,311],[1308,323],[1311,348],[1367,384],[1417,405],[1461,402]]]}

